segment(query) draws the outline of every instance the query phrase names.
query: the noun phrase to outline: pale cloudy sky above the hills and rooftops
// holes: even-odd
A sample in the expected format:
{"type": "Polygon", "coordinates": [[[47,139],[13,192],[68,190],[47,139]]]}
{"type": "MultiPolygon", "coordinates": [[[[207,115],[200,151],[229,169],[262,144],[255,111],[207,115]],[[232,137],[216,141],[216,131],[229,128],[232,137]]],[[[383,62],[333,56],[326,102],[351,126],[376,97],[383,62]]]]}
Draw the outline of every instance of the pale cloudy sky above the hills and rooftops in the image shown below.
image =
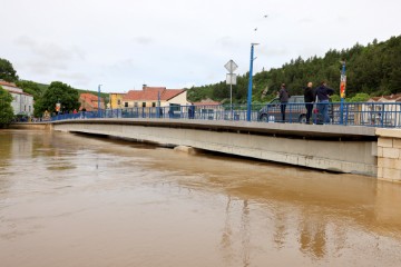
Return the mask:
{"type": "MultiPolygon", "coordinates": [[[[400,0],[0,0],[0,58],[23,80],[104,92],[225,80],[401,34],[400,0]]],[[[285,82],[285,81],[283,81],[285,82]]]]}

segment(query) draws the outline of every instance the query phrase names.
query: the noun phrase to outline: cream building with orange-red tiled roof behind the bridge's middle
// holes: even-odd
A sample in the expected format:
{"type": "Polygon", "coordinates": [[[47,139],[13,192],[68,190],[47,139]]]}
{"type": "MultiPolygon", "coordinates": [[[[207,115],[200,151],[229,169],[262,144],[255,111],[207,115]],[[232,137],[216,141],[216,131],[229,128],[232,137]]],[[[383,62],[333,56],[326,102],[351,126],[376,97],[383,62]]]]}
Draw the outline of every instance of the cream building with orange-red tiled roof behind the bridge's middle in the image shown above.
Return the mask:
{"type": "Polygon", "coordinates": [[[166,89],[165,87],[147,87],[130,90],[123,97],[124,108],[150,108],[169,106],[187,106],[186,89],[166,89]]]}

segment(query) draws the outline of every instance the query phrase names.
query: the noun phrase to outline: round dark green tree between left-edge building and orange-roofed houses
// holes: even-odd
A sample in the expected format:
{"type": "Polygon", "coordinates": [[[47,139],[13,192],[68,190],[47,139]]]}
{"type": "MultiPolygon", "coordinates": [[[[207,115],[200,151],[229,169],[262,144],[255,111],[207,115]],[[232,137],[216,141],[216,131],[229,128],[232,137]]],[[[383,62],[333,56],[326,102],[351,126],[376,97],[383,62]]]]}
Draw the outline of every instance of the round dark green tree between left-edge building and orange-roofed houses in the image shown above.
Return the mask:
{"type": "Polygon", "coordinates": [[[78,98],[79,96],[76,89],[61,81],[53,81],[43,96],[35,103],[35,116],[41,116],[46,110],[55,112],[57,102],[60,103],[60,111],[62,112],[79,109],[80,103],[78,98]]]}

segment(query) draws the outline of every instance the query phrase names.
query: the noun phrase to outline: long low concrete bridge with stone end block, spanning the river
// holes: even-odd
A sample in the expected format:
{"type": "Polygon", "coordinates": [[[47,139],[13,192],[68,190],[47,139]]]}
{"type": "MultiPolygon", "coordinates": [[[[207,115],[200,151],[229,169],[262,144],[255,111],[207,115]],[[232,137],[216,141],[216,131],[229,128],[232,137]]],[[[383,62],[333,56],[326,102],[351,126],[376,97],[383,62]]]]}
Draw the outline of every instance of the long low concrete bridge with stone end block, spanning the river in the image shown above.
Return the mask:
{"type": "Polygon", "coordinates": [[[192,147],[401,181],[401,130],[363,126],[189,119],[72,119],[13,125],[192,147]]]}

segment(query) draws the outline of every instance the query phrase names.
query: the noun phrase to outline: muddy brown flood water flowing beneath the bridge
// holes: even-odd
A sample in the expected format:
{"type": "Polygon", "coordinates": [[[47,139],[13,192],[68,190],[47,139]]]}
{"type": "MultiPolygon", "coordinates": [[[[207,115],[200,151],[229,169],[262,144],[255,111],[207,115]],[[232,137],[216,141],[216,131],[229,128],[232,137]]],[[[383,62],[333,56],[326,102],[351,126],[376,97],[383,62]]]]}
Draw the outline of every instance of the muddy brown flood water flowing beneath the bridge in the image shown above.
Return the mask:
{"type": "Polygon", "coordinates": [[[401,186],[0,130],[0,266],[400,266],[401,186]]]}

